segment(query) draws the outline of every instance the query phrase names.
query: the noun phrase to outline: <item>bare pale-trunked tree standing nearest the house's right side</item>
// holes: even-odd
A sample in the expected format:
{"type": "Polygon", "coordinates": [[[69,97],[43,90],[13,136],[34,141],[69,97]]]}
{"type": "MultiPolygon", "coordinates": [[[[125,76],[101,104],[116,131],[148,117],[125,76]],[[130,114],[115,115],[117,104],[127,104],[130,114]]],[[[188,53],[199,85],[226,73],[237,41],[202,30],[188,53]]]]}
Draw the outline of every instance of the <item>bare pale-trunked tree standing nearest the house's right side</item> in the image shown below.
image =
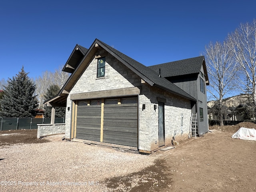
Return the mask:
{"type": "Polygon", "coordinates": [[[236,76],[236,62],[228,41],[212,42],[206,46],[206,64],[210,86],[208,92],[216,100],[216,113],[223,125],[224,104],[223,99],[227,93],[234,90],[234,76],[236,76]]]}

